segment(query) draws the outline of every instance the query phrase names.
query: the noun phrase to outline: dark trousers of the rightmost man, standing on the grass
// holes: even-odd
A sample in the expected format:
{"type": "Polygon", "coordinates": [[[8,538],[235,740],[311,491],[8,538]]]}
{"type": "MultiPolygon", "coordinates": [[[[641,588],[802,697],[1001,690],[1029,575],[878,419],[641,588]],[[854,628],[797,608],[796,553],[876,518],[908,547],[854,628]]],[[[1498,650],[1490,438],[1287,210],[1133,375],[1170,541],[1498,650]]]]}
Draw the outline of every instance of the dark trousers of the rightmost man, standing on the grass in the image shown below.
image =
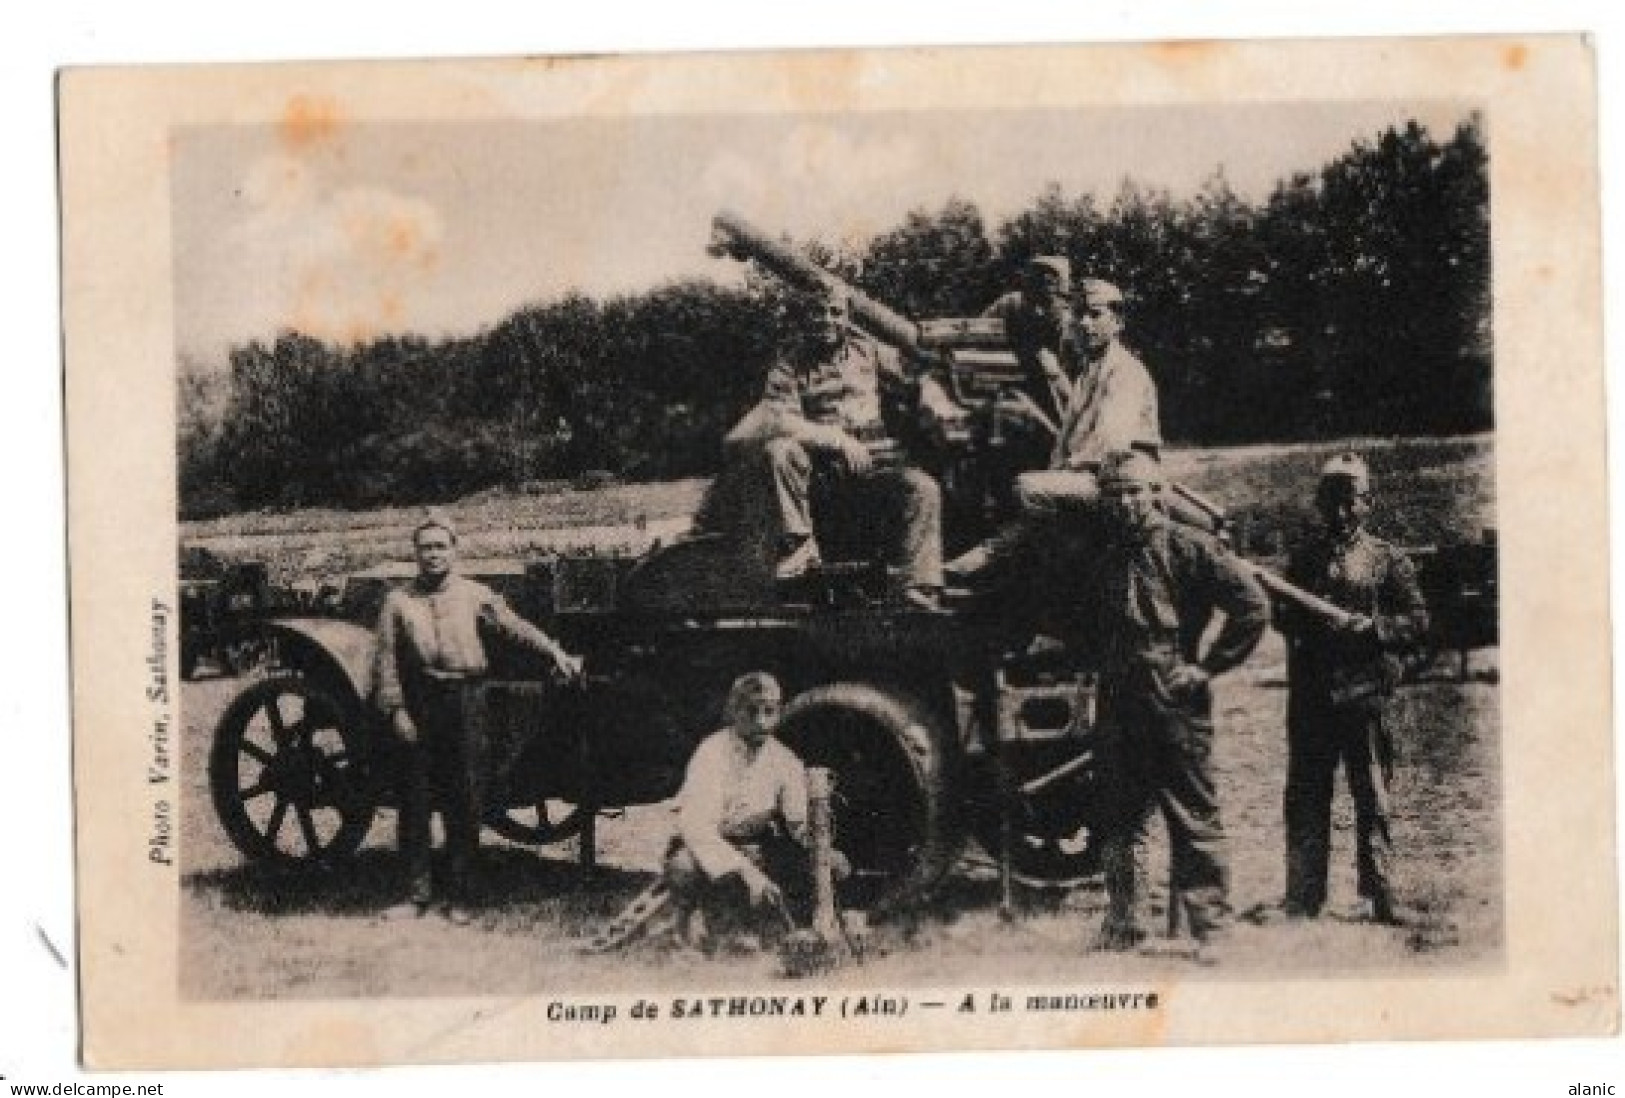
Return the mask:
{"type": "Polygon", "coordinates": [[[1294,690],[1287,703],[1285,900],[1308,913],[1326,903],[1332,785],[1342,763],[1354,796],[1360,895],[1388,903],[1393,900],[1388,783],[1394,752],[1381,700],[1332,705],[1294,690]]]}

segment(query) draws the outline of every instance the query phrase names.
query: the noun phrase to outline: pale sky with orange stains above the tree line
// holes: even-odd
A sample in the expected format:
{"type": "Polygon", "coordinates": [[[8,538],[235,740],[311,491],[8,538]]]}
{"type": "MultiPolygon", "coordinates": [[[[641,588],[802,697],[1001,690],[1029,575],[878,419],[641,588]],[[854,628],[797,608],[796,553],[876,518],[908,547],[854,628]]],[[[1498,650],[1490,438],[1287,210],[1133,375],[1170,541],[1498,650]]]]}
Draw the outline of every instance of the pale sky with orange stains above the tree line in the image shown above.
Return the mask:
{"type": "Polygon", "coordinates": [[[273,127],[188,130],[174,159],[177,346],[198,364],[299,328],[325,338],[466,335],[570,289],[736,281],[705,255],[734,210],[770,232],[861,245],[915,208],[973,200],[988,223],[1056,182],[1124,177],[1190,195],[1216,171],[1248,198],[1358,138],[1461,102],[1066,112],[702,115],[346,125],[289,146],[273,127]]]}

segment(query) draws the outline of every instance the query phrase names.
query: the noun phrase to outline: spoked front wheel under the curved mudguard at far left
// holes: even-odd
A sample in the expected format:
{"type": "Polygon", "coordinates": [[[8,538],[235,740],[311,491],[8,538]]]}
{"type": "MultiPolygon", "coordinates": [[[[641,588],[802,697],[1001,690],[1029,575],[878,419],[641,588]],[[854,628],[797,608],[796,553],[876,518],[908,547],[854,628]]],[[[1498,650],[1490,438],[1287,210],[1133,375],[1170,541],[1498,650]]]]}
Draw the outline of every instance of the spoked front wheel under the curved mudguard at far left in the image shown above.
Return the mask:
{"type": "Polygon", "coordinates": [[[214,728],[210,793],[245,856],[275,866],[356,853],[377,809],[353,705],[297,676],[255,682],[214,728]]]}

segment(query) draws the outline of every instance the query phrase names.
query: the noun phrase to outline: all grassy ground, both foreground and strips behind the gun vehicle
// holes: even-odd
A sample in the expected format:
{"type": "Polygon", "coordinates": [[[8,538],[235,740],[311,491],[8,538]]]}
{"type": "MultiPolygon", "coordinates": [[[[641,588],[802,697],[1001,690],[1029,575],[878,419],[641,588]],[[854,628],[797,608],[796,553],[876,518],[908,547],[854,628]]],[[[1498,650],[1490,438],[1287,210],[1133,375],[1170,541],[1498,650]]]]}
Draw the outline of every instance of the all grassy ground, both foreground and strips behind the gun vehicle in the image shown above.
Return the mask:
{"type": "MultiPolygon", "coordinates": [[[[1279,541],[1308,520],[1316,469],[1342,448],[1373,465],[1375,526],[1409,546],[1477,541],[1493,526],[1488,439],[1250,447],[1175,452],[1173,474],[1224,504],[1243,536],[1279,541]]],[[[530,552],[556,538],[595,539],[619,528],[627,544],[679,530],[702,482],[618,486],[601,492],[479,497],[450,505],[470,555],[530,552]],[[564,533],[559,531],[564,530],[564,533]],[[574,531],[574,533],[572,533],[574,531]]],[[[418,510],[364,515],[239,515],[188,525],[187,544],[271,559],[284,575],[403,557],[418,510]],[[336,549],[335,549],[336,546],[336,549]],[[328,557],[314,554],[330,552],[328,557]]],[[[1502,949],[1500,698],[1495,653],[1479,653],[1466,682],[1422,682],[1394,703],[1401,765],[1393,789],[1396,880],[1422,918],[1391,929],[1341,918],[1298,926],[1238,926],[1220,968],[1186,957],[1102,957],[1086,942],[1105,900],[1097,885],[1030,897],[1022,918],[996,914],[996,884],[970,848],[918,918],[881,929],[847,986],[1001,981],[1072,989],[1102,979],[1347,978],[1472,971],[1502,949]]],[[[1214,763],[1233,854],[1238,911],[1282,892],[1280,793],[1285,773],[1282,643],[1269,635],[1216,694],[1214,763]]],[[[595,921],[652,879],[671,828],[668,806],[627,811],[600,827],[601,869],[582,879],[569,845],[531,851],[486,836],[484,898],[473,926],[377,919],[393,893],[393,820],[380,815],[353,867],[327,877],[268,877],[244,864],[214,820],[206,754],[213,723],[239,689],[231,679],[185,685],[182,716],[182,991],[203,999],[536,994],[569,989],[722,988],[772,976],[772,960],[700,960],[653,947],[588,957],[575,949],[595,921]]],[[[1332,905],[1354,898],[1354,827],[1347,796],[1334,814],[1332,905]]],[[[1329,1031],[1331,1033],[1331,1031],[1329,1031]]]]}

